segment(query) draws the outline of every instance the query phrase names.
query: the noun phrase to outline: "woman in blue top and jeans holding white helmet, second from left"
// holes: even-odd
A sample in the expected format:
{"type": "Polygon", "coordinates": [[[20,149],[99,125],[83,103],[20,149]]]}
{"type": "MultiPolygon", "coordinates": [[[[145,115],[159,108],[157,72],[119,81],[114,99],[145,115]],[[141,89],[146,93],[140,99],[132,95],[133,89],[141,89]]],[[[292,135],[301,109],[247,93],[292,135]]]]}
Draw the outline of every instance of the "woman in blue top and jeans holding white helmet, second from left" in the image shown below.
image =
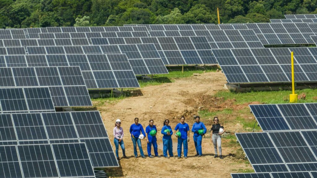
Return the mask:
{"type": "Polygon", "coordinates": [[[132,143],[133,143],[133,150],[134,150],[134,157],[137,158],[138,157],[138,152],[137,152],[137,144],[140,150],[140,154],[142,156],[142,158],[146,158],[144,153],[143,153],[143,149],[142,149],[142,145],[141,145],[141,140],[139,139],[139,136],[142,134],[145,137],[145,132],[144,129],[142,127],[141,124],[139,124],[139,118],[134,118],[134,124],[132,124],[130,126],[130,133],[131,133],[131,139],[132,139],[132,143]]]}

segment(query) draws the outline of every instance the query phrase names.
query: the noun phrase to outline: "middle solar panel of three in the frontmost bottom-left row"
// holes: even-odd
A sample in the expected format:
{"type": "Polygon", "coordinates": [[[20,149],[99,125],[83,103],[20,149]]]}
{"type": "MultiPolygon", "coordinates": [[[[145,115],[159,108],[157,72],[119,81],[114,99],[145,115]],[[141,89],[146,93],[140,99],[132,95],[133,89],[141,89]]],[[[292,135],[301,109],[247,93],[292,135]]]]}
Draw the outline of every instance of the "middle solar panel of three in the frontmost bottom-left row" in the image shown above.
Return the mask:
{"type": "Polygon", "coordinates": [[[18,145],[17,149],[25,178],[59,177],[50,144],[18,145]]]}

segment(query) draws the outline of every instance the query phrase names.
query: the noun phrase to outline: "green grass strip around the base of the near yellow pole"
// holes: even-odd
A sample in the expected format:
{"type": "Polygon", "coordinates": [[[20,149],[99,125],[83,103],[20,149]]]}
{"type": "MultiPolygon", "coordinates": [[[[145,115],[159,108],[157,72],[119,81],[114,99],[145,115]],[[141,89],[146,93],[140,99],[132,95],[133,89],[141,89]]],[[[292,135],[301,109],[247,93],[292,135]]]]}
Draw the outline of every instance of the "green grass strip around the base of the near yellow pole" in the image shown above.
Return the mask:
{"type": "MultiPolygon", "coordinates": [[[[316,99],[313,97],[317,96],[317,89],[304,89],[295,90],[295,93],[306,94],[306,99],[298,100],[298,103],[313,103],[316,99]]],[[[291,91],[262,91],[262,92],[246,92],[246,93],[235,93],[230,91],[220,91],[215,94],[216,97],[223,97],[226,99],[236,99],[236,104],[243,104],[248,102],[258,101],[265,104],[281,104],[289,103],[289,94],[291,91]]]]}

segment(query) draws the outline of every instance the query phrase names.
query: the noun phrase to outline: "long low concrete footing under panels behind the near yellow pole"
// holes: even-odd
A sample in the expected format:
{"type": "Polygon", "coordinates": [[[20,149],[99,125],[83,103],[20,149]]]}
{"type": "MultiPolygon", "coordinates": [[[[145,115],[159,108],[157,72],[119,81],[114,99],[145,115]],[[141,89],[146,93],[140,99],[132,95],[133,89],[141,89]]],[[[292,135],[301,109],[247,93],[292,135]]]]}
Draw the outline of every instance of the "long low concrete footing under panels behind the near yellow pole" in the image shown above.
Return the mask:
{"type": "MultiPolygon", "coordinates": [[[[230,91],[241,93],[250,91],[279,91],[279,90],[292,90],[291,86],[262,86],[262,87],[239,87],[233,84],[224,84],[224,87],[230,91]]],[[[306,88],[316,89],[317,86],[296,86],[296,90],[302,90],[306,88]]]]}

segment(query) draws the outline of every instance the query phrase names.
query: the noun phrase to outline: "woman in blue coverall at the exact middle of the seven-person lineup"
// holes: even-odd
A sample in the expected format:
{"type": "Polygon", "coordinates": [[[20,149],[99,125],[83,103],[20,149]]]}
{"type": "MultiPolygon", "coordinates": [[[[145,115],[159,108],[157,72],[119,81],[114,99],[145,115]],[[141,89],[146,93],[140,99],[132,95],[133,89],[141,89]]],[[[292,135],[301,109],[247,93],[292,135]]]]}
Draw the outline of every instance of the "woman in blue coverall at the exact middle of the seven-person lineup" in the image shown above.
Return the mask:
{"type": "Polygon", "coordinates": [[[163,134],[163,155],[165,158],[170,158],[173,157],[173,142],[172,142],[172,137],[171,135],[173,135],[173,131],[171,129],[171,126],[169,126],[168,124],[170,123],[170,121],[168,119],[165,119],[164,121],[164,126],[162,128],[161,134],[163,134]],[[164,130],[168,129],[169,132],[164,132],[164,130]],[[170,156],[167,156],[167,150],[168,150],[168,154],[170,156]]]}

